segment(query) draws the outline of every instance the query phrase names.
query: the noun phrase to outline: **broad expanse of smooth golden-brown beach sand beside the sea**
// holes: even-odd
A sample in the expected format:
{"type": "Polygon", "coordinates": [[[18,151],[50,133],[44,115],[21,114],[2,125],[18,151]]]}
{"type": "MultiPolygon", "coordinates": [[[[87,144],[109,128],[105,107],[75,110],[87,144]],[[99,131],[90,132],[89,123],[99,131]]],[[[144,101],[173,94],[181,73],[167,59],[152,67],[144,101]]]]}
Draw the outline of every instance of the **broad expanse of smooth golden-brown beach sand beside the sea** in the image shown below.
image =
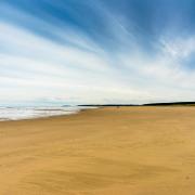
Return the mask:
{"type": "Polygon", "coordinates": [[[0,195],[194,195],[195,107],[0,122],[0,195]]]}

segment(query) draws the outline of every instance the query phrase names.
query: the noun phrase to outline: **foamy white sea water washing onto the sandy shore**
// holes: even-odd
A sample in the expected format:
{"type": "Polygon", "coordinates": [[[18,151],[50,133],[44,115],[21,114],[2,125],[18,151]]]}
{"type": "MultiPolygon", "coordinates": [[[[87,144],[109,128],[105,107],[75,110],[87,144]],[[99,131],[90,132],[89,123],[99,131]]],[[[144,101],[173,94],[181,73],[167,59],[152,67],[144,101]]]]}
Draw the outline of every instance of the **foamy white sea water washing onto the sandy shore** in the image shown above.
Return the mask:
{"type": "Polygon", "coordinates": [[[72,115],[84,107],[0,107],[0,121],[72,115]]]}

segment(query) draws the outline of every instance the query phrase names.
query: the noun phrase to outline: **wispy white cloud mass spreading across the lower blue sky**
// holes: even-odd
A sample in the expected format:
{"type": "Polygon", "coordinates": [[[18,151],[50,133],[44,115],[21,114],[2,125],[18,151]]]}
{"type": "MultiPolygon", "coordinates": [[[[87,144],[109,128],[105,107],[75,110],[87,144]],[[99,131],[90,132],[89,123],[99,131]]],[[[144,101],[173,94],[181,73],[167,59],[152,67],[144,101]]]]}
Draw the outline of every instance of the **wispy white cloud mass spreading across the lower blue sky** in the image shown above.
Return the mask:
{"type": "MultiPolygon", "coordinates": [[[[15,11],[16,12],[16,11],[15,11]]],[[[17,12],[17,15],[24,13],[17,12]]],[[[193,100],[194,70],[181,58],[195,51],[195,39],[162,39],[146,55],[118,16],[104,10],[116,41],[107,51],[73,26],[61,28],[26,15],[64,42],[43,38],[0,21],[0,101],[60,100],[74,103],[143,103],[193,100]]],[[[53,18],[54,20],[54,18],[53,18]]]]}

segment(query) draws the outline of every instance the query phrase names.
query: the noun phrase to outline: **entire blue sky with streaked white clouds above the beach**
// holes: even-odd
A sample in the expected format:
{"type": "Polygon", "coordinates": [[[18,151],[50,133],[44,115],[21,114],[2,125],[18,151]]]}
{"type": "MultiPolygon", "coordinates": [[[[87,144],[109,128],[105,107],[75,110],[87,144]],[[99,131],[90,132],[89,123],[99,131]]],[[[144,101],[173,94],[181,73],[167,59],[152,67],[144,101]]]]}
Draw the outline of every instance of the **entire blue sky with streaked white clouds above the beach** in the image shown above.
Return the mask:
{"type": "Polygon", "coordinates": [[[195,0],[0,0],[0,105],[195,101],[195,0]]]}

